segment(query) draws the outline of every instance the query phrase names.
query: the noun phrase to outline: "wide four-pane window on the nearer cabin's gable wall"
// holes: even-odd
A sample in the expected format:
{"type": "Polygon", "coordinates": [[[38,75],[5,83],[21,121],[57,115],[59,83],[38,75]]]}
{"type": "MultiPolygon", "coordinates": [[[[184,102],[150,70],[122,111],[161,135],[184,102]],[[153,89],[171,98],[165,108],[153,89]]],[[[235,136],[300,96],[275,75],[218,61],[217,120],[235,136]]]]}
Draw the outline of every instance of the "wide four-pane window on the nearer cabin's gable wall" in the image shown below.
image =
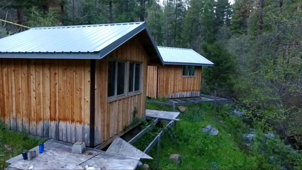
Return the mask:
{"type": "Polygon", "coordinates": [[[108,62],[108,99],[124,97],[140,92],[141,64],[133,62],[108,62]],[[128,79],[126,75],[129,75],[128,79]],[[127,91],[128,87],[128,91],[127,91]]]}

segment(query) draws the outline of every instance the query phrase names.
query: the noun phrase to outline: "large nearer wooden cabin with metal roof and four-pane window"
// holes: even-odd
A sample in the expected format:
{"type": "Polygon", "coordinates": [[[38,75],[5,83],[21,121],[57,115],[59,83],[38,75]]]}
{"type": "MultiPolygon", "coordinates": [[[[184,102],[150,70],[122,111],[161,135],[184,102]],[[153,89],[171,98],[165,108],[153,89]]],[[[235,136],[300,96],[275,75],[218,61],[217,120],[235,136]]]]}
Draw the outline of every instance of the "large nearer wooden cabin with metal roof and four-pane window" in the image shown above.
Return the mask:
{"type": "Polygon", "coordinates": [[[0,39],[0,118],[12,130],[96,146],[145,116],[145,22],[31,28],[0,39]]]}

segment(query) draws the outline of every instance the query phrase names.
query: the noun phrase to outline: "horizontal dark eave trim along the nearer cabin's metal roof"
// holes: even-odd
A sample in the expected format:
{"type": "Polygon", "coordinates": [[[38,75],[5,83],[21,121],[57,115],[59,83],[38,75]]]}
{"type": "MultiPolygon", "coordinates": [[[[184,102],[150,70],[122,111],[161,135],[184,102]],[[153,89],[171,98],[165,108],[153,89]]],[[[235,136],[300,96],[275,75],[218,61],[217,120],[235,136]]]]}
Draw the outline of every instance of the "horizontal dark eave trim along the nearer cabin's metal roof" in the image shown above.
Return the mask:
{"type": "Polygon", "coordinates": [[[0,52],[1,58],[100,59],[99,52],[0,52]]]}

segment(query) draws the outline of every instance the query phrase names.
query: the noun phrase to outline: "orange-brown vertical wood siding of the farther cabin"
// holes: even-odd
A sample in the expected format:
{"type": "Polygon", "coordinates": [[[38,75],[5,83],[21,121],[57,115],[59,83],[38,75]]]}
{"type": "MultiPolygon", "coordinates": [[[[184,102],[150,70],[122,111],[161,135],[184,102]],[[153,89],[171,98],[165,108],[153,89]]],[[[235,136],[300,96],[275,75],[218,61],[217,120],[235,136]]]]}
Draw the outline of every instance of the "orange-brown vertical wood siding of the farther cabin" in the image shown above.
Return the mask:
{"type": "Polygon", "coordinates": [[[182,66],[148,66],[148,97],[156,97],[154,82],[157,82],[157,97],[197,97],[200,95],[202,67],[196,68],[195,77],[182,76],[182,66]],[[155,68],[158,69],[158,75],[155,68]],[[156,75],[158,79],[155,79],[156,75]]]}

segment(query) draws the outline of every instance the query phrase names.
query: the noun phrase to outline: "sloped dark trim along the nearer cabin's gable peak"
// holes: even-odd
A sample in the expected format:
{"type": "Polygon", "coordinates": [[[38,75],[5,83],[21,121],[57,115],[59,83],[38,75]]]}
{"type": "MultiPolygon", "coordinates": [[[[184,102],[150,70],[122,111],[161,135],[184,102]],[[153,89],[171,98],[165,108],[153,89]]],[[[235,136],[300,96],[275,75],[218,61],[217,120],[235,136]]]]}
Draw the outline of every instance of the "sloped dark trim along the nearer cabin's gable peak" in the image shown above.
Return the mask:
{"type": "Polygon", "coordinates": [[[125,36],[123,36],[123,37],[119,38],[118,40],[114,41],[113,43],[111,43],[107,47],[100,50],[100,58],[103,58],[104,56],[106,56],[107,54],[109,54],[110,52],[112,52],[113,50],[115,50],[116,48],[118,48],[119,46],[124,44],[125,42],[127,42],[129,39],[131,39],[135,35],[142,32],[143,30],[146,30],[146,32],[148,34],[148,37],[149,37],[149,40],[152,42],[154,50],[156,51],[157,55],[159,56],[161,63],[164,65],[163,58],[161,57],[160,52],[158,51],[157,46],[156,46],[155,42],[153,41],[153,38],[150,34],[150,31],[148,30],[146,22],[143,23],[142,25],[140,25],[139,27],[135,28],[134,30],[130,31],[125,36]]]}

